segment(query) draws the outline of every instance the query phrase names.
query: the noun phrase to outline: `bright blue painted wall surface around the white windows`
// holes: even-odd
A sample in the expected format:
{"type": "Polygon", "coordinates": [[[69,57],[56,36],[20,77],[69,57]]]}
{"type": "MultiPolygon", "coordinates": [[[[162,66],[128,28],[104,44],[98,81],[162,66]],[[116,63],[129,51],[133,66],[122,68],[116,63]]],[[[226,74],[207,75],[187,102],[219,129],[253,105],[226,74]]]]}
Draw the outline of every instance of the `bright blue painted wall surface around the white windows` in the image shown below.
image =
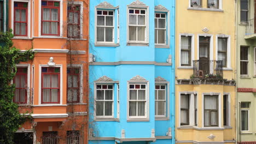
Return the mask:
{"type": "MultiPolygon", "coordinates": [[[[149,10],[149,44],[148,46],[128,46],[127,45],[127,5],[135,0],[105,0],[114,7],[119,7],[119,25],[120,36],[119,46],[95,46],[95,9],[96,6],[104,0],[90,1],[90,47],[89,52],[95,56],[95,63],[97,62],[156,62],[166,63],[169,55],[172,56],[172,65],[155,65],[155,64],[119,64],[119,65],[100,65],[90,64],[89,67],[89,128],[94,130],[95,137],[121,138],[121,130],[125,130],[125,138],[143,138],[146,141],[129,141],[126,143],[175,143],[174,141],[174,0],[141,0],[148,6],[149,10]],[[163,5],[168,11],[167,15],[167,37],[170,40],[167,44],[170,48],[155,48],[154,38],[154,13],[156,5],[163,5]],[[94,81],[106,75],[114,81],[119,81],[120,87],[120,111],[118,118],[117,111],[117,83],[114,85],[114,118],[117,121],[94,121],[94,81]],[[139,75],[149,81],[149,121],[147,122],[127,122],[127,81],[139,75]],[[168,107],[169,119],[165,121],[155,121],[155,78],[161,76],[166,81],[170,82],[170,107],[168,107]],[[172,129],[172,139],[156,141],[147,141],[151,138],[152,129],[155,130],[155,136],[166,136],[168,128],[172,129]]],[[[167,13],[166,13],[167,14],[167,13]]],[[[117,9],[115,9],[115,26],[117,26],[117,9]]],[[[115,29],[115,43],[117,43],[117,29],[115,29]]],[[[115,143],[115,140],[90,140],[89,143],[115,143]]]]}

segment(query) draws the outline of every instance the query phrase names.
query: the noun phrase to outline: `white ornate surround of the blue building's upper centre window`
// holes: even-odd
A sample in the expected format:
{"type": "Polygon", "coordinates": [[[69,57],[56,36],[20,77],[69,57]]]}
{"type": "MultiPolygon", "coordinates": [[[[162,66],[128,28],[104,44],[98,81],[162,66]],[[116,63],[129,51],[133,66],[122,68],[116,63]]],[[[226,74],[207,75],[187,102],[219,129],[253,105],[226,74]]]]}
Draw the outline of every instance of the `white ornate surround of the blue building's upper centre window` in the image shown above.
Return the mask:
{"type": "Polygon", "coordinates": [[[127,44],[149,44],[149,8],[148,8],[148,6],[144,6],[144,5],[127,5],[126,13],[127,13],[127,16],[126,16],[127,17],[126,18],[127,44]],[[145,41],[130,41],[129,40],[129,10],[130,9],[145,10],[145,25],[146,25],[146,28],[145,28],[145,41]]]}

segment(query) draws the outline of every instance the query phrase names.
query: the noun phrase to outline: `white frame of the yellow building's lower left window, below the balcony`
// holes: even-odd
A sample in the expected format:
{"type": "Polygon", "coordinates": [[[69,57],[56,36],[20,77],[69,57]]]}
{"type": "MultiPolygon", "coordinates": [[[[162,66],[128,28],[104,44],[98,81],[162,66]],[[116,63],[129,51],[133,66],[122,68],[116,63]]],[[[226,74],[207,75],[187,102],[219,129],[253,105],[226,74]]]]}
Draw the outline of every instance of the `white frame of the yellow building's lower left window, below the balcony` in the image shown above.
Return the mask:
{"type": "MultiPolygon", "coordinates": [[[[197,92],[179,92],[179,127],[195,126],[195,95],[197,92]],[[189,125],[181,125],[181,95],[189,94],[189,125]]],[[[197,121],[198,121],[198,95],[197,95],[197,121]]],[[[197,122],[198,125],[198,122],[197,122]]]]}

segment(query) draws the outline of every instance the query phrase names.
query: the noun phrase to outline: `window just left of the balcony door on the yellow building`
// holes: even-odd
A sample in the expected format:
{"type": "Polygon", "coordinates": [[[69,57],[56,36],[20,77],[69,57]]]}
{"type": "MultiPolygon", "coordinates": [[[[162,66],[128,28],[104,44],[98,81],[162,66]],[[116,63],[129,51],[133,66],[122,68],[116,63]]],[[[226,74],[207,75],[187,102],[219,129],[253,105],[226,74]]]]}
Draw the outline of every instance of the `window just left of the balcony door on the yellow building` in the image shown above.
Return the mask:
{"type": "Polygon", "coordinates": [[[191,66],[191,36],[181,36],[181,65],[191,66]]]}

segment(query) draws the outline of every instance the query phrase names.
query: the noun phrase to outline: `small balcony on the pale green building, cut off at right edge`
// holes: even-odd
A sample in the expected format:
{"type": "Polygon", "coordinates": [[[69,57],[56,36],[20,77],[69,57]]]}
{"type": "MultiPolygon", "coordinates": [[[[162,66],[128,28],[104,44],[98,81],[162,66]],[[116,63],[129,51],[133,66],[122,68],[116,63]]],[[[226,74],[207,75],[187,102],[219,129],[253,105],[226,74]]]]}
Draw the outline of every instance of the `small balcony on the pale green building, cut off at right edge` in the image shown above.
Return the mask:
{"type": "Polygon", "coordinates": [[[251,19],[247,21],[245,39],[256,39],[255,20],[256,19],[251,19]]]}

